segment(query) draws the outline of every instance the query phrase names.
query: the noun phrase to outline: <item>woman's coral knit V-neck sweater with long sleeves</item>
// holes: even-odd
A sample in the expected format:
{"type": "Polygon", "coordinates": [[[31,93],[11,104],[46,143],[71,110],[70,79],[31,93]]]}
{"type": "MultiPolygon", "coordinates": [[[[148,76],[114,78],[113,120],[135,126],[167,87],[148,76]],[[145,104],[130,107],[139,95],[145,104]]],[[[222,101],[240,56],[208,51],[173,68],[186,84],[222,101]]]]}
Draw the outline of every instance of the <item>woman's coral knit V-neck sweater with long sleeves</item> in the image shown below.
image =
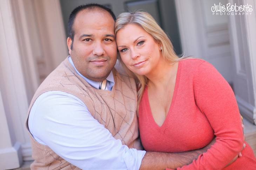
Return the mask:
{"type": "MultiPolygon", "coordinates": [[[[206,153],[181,169],[223,169],[242,150],[243,131],[234,93],[221,74],[202,59],[178,62],[173,98],[161,126],[153,118],[145,88],[139,106],[139,129],[147,151],[200,149],[216,136],[206,153]]],[[[244,169],[245,165],[249,170],[256,169],[248,144],[242,155],[225,169],[244,169]]]]}

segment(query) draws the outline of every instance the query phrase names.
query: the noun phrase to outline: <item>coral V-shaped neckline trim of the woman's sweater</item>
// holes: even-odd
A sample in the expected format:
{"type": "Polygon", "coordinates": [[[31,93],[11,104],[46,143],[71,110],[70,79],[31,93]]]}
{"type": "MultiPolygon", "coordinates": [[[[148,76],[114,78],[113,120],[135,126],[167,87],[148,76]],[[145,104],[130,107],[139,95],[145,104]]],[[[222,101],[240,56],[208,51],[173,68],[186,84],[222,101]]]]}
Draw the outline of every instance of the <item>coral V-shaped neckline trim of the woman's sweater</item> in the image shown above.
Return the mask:
{"type": "Polygon", "coordinates": [[[176,73],[176,79],[175,79],[175,86],[174,86],[174,91],[173,91],[173,97],[171,99],[171,104],[170,104],[170,107],[169,107],[169,110],[167,112],[167,116],[166,118],[164,119],[163,121],[163,124],[161,126],[159,126],[154,117],[153,117],[153,114],[152,114],[152,111],[151,111],[151,108],[150,108],[150,103],[149,103],[149,97],[148,97],[148,86],[146,86],[145,88],[145,93],[146,93],[146,102],[149,106],[148,110],[148,119],[149,119],[149,122],[153,121],[153,123],[151,123],[152,126],[154,126],[155,128],[157,128],[158,130],[161,130],[163,128],[166,127],[166,125],[168,124],[168,119],[170,117],[170,111],[172,110],[172,108],[174,107],[174,103],[175,103],[175,99],[176,99],[176,95],[177,95],[177,90],[178,90],[178,84],[179,84],[179,81],[180,81],[180,70],[181,70],[181,62],[178,61],[178,69],[177,69],[177,73],[176,73]]]}

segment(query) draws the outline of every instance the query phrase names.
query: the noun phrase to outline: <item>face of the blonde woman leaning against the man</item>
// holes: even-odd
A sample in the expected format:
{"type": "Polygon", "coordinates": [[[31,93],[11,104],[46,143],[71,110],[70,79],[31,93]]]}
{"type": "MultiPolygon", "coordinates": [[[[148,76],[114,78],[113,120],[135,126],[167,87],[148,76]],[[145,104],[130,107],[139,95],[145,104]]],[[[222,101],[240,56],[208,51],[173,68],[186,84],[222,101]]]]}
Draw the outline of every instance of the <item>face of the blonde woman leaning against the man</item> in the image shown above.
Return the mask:
{"type": "Polygon", "coordinates": [[[127,68],[148,75],[161,59],[160,44],[137,24],[128,24],[116,34],[117,48],[127,68]]]}

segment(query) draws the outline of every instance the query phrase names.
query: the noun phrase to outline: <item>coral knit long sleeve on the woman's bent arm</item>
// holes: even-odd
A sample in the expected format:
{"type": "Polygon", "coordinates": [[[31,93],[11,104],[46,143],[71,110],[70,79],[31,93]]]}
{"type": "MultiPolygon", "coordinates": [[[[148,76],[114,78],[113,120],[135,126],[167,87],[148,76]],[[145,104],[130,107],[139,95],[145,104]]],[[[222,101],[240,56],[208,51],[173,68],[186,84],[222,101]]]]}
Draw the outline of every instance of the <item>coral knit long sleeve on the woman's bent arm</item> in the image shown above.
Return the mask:
{"type": "Polygon", "coordinates": [[[206,61],[198,66],[194,93],[196,105],[213,128],[216,142],[197,160],[177,170],[223,169],[242,150],[243,145],[235,95],[228,82],[206,61]]]}

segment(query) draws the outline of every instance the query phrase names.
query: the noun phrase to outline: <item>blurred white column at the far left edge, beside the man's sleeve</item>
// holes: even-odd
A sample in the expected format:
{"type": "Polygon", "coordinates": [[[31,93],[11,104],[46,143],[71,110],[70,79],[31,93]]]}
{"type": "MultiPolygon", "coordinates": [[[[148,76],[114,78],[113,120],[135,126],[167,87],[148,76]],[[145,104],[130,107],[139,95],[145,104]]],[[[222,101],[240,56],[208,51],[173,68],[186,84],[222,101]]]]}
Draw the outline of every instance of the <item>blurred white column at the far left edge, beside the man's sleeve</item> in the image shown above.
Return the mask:
{"type": "Polygon", "coordinates": [[[25,118],[28,94],[38,86],[38,78],[29,53],[29,33],[21,24],[26,22],[17,21],[17,16],[22,17],[21,8],[14,9],[18,2],[0,1],[0,169],[18,168],[23,160],[31,160],[25,118]]]}

